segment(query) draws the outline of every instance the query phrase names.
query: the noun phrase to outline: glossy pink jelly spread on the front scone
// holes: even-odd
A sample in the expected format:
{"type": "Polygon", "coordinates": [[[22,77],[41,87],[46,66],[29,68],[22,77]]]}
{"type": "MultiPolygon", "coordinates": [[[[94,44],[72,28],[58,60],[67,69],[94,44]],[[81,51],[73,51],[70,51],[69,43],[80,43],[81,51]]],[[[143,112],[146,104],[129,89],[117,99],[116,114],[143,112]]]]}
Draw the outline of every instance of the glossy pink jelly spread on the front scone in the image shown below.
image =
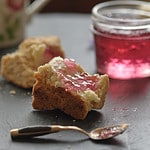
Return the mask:
{"type": "Polygon", "coordinates": [[[58,70],[62,77],[62,83],[66,91],[85,91],[87,89],[95,91],[99,78],[96,75],[89,75],[78,69],[75,61],[72,59],[64,59],[65,68],[58,70]]]}

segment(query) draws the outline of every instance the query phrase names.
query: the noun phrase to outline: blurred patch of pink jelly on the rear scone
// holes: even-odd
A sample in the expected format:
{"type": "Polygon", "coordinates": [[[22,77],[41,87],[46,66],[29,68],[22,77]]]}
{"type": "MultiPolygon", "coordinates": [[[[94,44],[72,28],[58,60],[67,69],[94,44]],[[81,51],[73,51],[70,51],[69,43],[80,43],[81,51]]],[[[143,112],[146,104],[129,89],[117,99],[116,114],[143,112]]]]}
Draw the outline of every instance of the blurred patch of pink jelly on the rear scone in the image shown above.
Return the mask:
{"type": "Polygon", "coordinates": [[[45,62],[49,62],[52,58],[56,56],[63,57],[62,53],[60,52],[60,50],[58,50],[58,48],[48,46],[44,52],[45,62]]]}

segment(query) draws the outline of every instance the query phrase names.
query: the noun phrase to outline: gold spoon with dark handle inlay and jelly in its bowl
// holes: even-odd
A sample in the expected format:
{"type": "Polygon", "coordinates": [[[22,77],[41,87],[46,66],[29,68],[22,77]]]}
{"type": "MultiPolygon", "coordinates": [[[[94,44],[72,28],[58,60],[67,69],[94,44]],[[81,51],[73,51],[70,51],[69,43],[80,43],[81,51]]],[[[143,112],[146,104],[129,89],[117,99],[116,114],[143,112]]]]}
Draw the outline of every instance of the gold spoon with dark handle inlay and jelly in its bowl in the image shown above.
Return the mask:
{"type": "Polygon", "coordinates": [[[128,124],[120,124],[109,127],[97,128],[91,132],[76,126],[61,126],[61,125],[47,125],[47,126],[28,126],[19,129],[10,130],[12,139],[15,138],[28,138],[35,136],[42,136],[49,133],[55,133],[63,130],[76,130],[87,135],[92,140],[105,140],[115,137],[123,133],[128,128],[128,124]]]}

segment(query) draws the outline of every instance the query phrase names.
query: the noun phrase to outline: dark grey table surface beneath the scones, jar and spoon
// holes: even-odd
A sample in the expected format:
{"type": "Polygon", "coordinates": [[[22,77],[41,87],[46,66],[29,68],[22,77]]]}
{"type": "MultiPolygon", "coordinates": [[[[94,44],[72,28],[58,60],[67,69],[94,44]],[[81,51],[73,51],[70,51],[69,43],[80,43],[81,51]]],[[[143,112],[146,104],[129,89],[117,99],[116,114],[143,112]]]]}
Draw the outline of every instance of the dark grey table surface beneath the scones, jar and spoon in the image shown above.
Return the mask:
{"type": "MultiPolygon", "coordinates": [[[[91,74],[96,72],[90,15],[42,14],[27,26],[26,37],[58,35],[66,56],[74,58],[91,74]]],[[[1,50],[0,56],[13,49],[1,50]]],[[[40,112],[31,107],[31,90],[21,89],[0,77],[0,150],[148,150],[150,148],[150,78],[110,80],[102,110],[91,111],[83,121],[60,111],[40,112]],[[16,91],[11,94],[11,91],[16,91]],[[87,131],[128,123],[116,138],[94,142],[81,133],[63,131],[34,139],[12,141],[9,130],[28,125],[76,125],[87,131]]]]}

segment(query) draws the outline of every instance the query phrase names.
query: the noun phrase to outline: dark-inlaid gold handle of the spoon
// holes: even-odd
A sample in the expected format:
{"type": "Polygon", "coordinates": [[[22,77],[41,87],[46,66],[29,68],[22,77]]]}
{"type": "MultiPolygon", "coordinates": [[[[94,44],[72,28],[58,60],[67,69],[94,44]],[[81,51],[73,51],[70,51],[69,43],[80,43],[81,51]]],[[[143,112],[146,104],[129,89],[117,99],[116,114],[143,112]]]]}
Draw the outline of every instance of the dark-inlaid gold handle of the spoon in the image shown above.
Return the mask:
{"type": "Polygon", "coordinates": [[[49,133],[55,133],[61,130],[62,130],[62,126],[60,125],[27,126],[18,129],[12,129],[10,130],[10,134],[12,139],[14,139],[14,138],[41,136],[49,133]]]}

